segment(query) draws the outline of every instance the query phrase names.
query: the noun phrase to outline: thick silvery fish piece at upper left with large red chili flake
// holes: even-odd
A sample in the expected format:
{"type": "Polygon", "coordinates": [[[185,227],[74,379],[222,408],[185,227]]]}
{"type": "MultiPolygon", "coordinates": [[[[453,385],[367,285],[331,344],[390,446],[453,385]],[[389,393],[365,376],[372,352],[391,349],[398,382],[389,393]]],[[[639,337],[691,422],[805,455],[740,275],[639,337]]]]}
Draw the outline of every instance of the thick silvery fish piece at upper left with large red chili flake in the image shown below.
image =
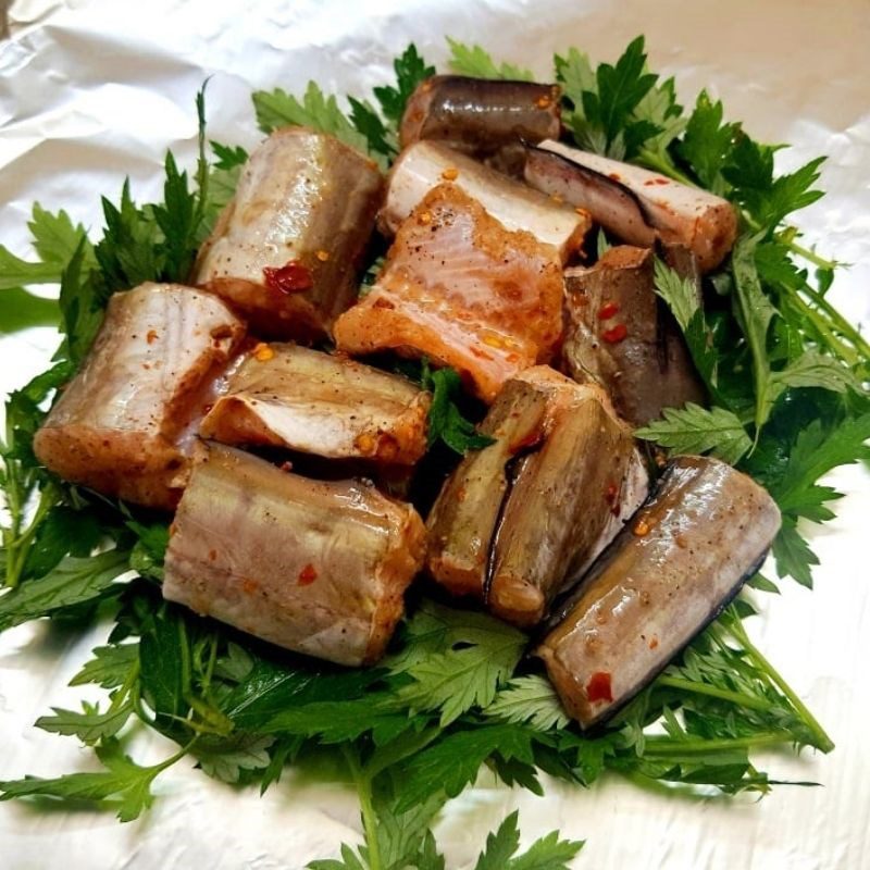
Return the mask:
{"type": "Polygon", "coordinates": [[[357,298],[383,195],[377,166],[306,127],[275,130],[248,159],[200,251],[195,283],[256,332],[311,340],[357,298]]]}

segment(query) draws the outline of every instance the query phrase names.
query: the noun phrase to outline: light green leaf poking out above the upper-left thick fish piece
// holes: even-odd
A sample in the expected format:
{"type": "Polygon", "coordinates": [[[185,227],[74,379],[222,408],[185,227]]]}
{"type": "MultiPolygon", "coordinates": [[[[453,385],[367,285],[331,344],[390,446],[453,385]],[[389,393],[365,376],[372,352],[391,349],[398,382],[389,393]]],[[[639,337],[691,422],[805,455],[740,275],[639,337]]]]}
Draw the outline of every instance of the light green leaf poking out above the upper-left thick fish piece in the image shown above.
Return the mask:
{"type": "MultiPolygon", "coordinates": [[[[263,133],[272,133],[285,126],[311,127],[369,153],[365,136],[348,121],[338,108],[335,97],[326,97],[314,82],[308,83],[301,101],[281,88],[272,91],[257,90],[252,99],[257,124],[263,133]]],[[[375,153],[372,157],[384,165],[383,156],[375,153]]]]}

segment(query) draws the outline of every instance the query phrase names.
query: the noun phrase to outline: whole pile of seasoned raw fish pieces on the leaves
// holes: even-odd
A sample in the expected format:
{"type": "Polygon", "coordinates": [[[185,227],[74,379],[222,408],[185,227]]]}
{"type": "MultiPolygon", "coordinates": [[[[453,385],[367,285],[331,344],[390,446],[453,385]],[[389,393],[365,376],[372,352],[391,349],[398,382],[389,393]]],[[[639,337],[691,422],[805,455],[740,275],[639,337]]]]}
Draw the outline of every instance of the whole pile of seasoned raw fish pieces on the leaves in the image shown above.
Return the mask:
{"type": "Polygon", "coordinates": [[[560,144],[560,96],[434,76],[408,102],[386,179],[331,136],[276,130],[191,286],[112,297],[35,449],[69,481],[176,510],[167,599],[363,664],[425,569],[534,631],[591,728],[756,570],[780,523],[767,493],[701,457],[650,483],[632,435],[705,399],[654,257],[700,299],[734,211],[560,144]],[[375,225],[391,246],[358,299],[375,225]],[[624,244],[588,264],[593,226],[624,244]],[[325,341],[336,350],[310,347],[325,341]],[[351,359],[385,351],[453,366],[489,406],[492,443],[462,459],[425,525],[385,492],[426,451],[432,396],[351,359]]]}

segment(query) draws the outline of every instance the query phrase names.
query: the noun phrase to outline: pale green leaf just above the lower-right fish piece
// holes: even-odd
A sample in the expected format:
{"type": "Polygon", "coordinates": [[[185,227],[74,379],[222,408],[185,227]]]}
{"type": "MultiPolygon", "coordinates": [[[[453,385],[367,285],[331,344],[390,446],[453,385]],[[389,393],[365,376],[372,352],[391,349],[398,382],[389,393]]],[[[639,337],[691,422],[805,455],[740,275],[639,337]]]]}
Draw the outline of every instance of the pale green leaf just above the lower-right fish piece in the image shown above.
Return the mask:
{"type": "Polygon", "coordinates": [[[735,465],[753,446],[739,419],[724,408],[701,408],[687,402],[666,408],[660,420],[635,430],[635,437],[655,442],[678,453],[706,453],[735,465]]]}

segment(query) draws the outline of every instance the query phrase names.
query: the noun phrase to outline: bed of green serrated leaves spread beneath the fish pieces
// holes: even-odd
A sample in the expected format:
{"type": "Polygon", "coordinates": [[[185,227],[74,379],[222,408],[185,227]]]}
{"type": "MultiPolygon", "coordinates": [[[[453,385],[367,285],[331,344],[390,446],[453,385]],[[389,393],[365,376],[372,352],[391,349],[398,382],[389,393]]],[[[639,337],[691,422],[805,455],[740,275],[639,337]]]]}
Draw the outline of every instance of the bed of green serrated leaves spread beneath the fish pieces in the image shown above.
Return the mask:
{"type": "MultiPolygon", "coordinates": [[[[478,46],[449,45],[456,72],[532,77],[478,46]]],[[[349,113],[314,83],[298,97],[281,88],[257,92],[257,122],[263,132],[313,126],[387,166],[405,102],[434,67],[411,46],[395,71],[395,83],[375,88],[373,101],[349,98],[349,113]]],[[[811,585],[818,559],[804,524],[830,520],[841,497],[818,481],[837,465],[870,460],[870,348],[826,299],[836,263],[801,247],[784,223],[821,196],[815,187],[821,160],[775,175],[776,147],[725,122],[722,104],[705,92],[684,111],[673,79],[648,70],[639,37],[613,64],[595,67],[577,49],[557,55],[555,77],[577,145],[704,186],[738,208],[737,245],[708,277],[704,306],[666,266],[656,273],[711,406],[669,409],[637,435],[674,451],[712,452],[767,486],[784,517],[774,545],[778,573],[811,585]]],[[[364,842],[311,867],[435,870],[445,860],[432,824],[482,769],[537,794],[540,772],[587,786],[607,771],[685,788],[765,793],[771,782],[753,763],[755,748],[833,748],[750,643],[742,620],[753,611],[742,600],[596,736],[569,722],[549,683],[523,659],[525,636],[481,613],[423,600],[382,666],[344,671],[162,601],[165,519],[58,481],[37,463],[32,439],[55,390],[87,353],[110,294],[144,281],[184,281],[232,196],[247,156],[219,142],[210,144],[210,154],[203,94],[197,111],[197,166],[190,176],[166,156],[162,202],[137,204],[125,183],[116,202],[103,198],[96,244],[65,212],[37,203],[29,223],[37,259],[0,247],[0,293],[4,310],[15,311],[3,330],[45,325],[53,314],[63,334],[51,368],[5,406],[0,631],[39,618],[113,623],[73,680],[102,687],[104,700],[55,708],[36,723],[94,747],[102,769],[0,782],[0,799],[103,806],[127,821],[153,800],[153,781],[182,759],[215,779],[265,791],[318,746],[340,759],[359,793],[364,842]],[[40,284],[60,285],[57,309],[28,293],[40,284]],[[141,728],[164,734],[177,751],[138,765],[128,743],[141,728]]],[[[424,364],[414,374],[434,393],[431,440],[458,453],[484,446],[460,411],[456,373],[424,364]]],[[[753,585],[776,588],[761,576],[753,585]]],[[[517,823],[513,813],[486,838],[476,870],[558,870],[582,846],[554,832],[518,855],[517,823]]]]}

